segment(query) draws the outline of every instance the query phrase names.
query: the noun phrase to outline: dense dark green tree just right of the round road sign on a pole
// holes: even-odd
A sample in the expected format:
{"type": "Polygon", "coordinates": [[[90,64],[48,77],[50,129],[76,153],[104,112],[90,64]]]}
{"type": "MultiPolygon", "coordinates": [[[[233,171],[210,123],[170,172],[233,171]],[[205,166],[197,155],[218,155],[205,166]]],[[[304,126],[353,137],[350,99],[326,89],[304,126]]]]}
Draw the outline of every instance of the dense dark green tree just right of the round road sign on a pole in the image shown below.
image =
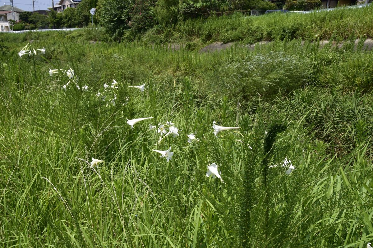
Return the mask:
{"type": "Polygon", "coordinates": [[[134,0],[98,0],[97,10],[100,24],[115,39],[121,39],[128,25],[134,0]]]}

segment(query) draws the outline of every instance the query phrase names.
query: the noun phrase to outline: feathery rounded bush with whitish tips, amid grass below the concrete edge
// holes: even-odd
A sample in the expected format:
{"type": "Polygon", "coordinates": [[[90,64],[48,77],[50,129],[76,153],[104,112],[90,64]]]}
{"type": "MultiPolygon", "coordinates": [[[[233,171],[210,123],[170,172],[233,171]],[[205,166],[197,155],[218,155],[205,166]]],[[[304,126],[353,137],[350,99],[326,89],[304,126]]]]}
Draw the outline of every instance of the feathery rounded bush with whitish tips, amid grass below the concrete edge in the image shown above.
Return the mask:
{"type": "Polygon", "coordinates": [[[217,67],[213,81],[232,96],[250,99],[260,95],[272,99],[279,92],[290,93],[311,82],[311,62],[282,52],[226,57],[217,67]]]}

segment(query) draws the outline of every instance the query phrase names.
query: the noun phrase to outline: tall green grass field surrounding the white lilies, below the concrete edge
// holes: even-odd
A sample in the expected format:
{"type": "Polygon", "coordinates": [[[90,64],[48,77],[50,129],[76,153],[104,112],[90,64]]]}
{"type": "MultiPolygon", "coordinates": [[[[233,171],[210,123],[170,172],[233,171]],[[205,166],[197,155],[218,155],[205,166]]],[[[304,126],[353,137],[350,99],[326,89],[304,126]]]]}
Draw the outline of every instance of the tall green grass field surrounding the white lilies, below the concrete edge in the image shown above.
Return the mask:
{"type": "Polygon", "coordinates": [[[27,44],[20,36],[3,42],[4,247],[363,247],[372,240],[372,53],[292,41],[199,54],[71,42],[76,35],[32,34],[32,46],[47,49],[35,57],[18,57],[27,44]],[[49,76],[67,64],[87,92],[75,83],[65,92],[68,78],[49,76]],[[104,91],[113,78],[120,87],[104,91]],[[142,83],[144,93],[127,87],[142,83]],[[115,105],[108,104],[113,93],[115,105]],[[147,116],[154,120],[126,124],[147,116]],[[159,136],[148,123],[167,120],[180,137],[154,145],[159,136]],[[213,120],[241,129],[216,138],[213,120]],[[269,161],[287,156],[296,169],[273,168],[266,188],[263,140],[278,122],[287,129],[269,161]],[[186,142],[191,132],[200,142],[186,142]],[[168,163],[151,151],[169,146],[168,163]],[[91,157],[105,164],[92,170],[91,157]],[[206,178],[209,162],[219,164],[224,184],[206,178]]]}

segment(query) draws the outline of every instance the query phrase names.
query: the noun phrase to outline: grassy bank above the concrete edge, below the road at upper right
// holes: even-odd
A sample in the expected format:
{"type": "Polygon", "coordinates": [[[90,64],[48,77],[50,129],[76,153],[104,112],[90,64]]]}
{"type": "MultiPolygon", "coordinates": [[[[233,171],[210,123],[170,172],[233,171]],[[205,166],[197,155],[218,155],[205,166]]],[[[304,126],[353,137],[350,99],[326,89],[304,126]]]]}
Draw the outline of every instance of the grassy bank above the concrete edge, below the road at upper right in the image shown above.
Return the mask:
{"type": "Polygon", "coordinates": [[[149,42],[232,42],[253,44],[284,39],[348,39],[373,37],[373,5],[308,14],[210,17],[187,20],[174,28],[156,27],[142,38],[149,42]]]}

